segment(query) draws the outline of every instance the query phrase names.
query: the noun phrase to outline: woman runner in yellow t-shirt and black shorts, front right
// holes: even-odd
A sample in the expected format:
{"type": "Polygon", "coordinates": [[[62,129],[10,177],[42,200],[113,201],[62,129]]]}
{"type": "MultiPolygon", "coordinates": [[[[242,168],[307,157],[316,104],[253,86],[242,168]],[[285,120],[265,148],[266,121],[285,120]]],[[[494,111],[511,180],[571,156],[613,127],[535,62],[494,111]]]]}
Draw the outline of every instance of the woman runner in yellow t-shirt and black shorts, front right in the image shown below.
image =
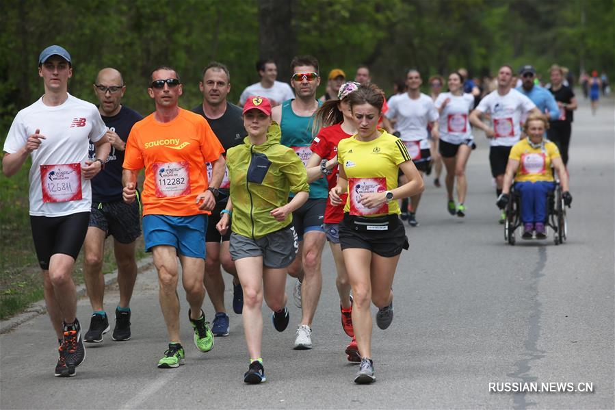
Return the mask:
{"type": "MultiPolygon", "coordinates": [[[[429,98],[429,97],[428,97],[429,98]]],[[[397,198],[423,190],[423,179],[406,146],[377,128],[382,90],[361,86],[348,96],[357,133],[338,145],[339,179],[330,191],[332,205],[348,193],[339,239],[352,286],[352,324],[361,354],[355,383],[376,380],[371,359],[371,302],[378,307],[376,324],[387,329],[393,321],[393,277],[402,249],[408,248],[397,198]],[[400,170],[407,183],[397,185],[400,170]]]]}

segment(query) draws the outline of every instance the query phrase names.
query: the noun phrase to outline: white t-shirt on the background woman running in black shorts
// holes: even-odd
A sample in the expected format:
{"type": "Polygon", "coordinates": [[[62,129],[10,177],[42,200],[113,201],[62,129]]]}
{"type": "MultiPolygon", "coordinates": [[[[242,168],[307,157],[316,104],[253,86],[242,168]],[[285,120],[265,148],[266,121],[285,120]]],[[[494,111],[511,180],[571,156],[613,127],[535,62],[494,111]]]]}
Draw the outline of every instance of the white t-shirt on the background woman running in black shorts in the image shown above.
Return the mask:
{"type": "Polygon", "coordinates": [[[436,98],[434,103],[436,109],[442,107],[445,99],[449,99],[449,102],[440,113],[438,121],[440,138],[449,144],[459,145],[472,138],[468,117],[474,106],[474,96],[468,93],[453,95],[450,92],[443,92],[436,98]]]}

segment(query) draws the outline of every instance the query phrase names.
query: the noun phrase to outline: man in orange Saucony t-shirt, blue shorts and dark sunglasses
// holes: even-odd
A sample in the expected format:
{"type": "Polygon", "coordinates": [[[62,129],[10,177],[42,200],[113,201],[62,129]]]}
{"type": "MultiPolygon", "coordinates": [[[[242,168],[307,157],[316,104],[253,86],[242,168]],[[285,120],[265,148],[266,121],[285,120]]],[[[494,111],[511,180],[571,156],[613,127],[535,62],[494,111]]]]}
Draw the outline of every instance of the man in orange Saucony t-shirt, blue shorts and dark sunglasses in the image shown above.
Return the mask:
{"type": "Polygon", "coordinates": [[[224,148],[202,116],[179,107],[182,87],[174,68],[161,66],[152,71],[147,92],[156,110],[130,132],[123,196],[126,203],[135,201],[137,175],[145,168],[143,235],[145,249],[153,253],[158,270],[158,298],[169,336],[168,350],[158,367],[176,368],[185,361],[176,293],[178,256],[194,344],[201,352],[213,348],[213,334],[202,311],[205,231],[224,176],[224,148]],[[213,164],[211,181],[206,162],[213,164]]]}

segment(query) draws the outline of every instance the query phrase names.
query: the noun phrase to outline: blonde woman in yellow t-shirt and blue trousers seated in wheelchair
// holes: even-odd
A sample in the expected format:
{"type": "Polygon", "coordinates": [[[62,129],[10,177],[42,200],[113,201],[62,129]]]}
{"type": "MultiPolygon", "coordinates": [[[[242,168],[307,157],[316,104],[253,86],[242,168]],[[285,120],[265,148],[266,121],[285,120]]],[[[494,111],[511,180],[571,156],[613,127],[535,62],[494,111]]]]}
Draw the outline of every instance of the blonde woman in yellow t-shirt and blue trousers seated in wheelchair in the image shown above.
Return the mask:
{"type": "Polygon", "coordinates": [[[558,172],[562,185],[564,205],[569,207],[573,201],[568,192],[568,175],[558,146],[544,138],[548,127],[549,121],[543,114],[531,114],[527,118],[523,127],[527,138],[514,144],[510,150],[502,194],[497,199],[500,209],[506,207],[514,178],[515,194],[521,197],[523,239],[531,239],[534,231],[536,239],[547,238],[547,194],[555,189],[553,168],[558,172]]]}

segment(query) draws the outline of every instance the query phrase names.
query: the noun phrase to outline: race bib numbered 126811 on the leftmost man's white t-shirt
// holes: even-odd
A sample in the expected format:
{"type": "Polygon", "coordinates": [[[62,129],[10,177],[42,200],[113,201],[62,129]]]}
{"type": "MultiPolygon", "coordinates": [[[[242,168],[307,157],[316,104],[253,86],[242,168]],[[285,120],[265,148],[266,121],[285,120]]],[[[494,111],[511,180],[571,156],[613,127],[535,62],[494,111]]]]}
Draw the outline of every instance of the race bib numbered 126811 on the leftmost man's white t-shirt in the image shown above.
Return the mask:
{"type": "Polygon", "coordinates": [[[40,166],[42,201],[68,202],[81,199],[81,164],[40,166]]]}

